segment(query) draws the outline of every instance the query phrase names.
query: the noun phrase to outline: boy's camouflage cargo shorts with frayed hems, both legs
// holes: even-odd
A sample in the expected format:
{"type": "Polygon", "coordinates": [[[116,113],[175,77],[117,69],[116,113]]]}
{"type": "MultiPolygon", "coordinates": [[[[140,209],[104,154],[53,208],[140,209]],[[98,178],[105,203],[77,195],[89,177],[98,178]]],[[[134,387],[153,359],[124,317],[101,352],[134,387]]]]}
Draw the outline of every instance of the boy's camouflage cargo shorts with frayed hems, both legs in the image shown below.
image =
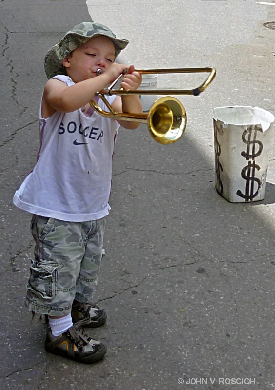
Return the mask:
{"type": "Polygon", "coordinates": [[[30,311],[52,316],[71,312],[73,300],[92,303],[98,283],[105,218],[64,222],[33,215],[31,259],[26,305],[30,311]]]}

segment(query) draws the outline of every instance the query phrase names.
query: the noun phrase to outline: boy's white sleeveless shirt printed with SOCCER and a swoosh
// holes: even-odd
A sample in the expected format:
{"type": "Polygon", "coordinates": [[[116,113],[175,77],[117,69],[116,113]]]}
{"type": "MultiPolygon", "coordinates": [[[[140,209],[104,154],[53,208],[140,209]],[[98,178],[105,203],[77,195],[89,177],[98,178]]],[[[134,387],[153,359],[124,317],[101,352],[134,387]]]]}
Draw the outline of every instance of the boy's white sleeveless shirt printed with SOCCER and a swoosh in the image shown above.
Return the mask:
{"type": "MultiPolygon", "coordinates": [[[[68,86],[68,76],[56,76],[68,86]]],[[[115,96],[106,97],[112,103],[115,96]]],[[[101,101],[98,105],[107,110],[101,101]]],[[[119,124],[93,110],[39,110],[40,149],[32,172],[16,191],[14,204],[33,214],[82,222],[109,214],[112,157],[119,124]],[[92,111],[92,112],[91,112],[92,111]]]]}

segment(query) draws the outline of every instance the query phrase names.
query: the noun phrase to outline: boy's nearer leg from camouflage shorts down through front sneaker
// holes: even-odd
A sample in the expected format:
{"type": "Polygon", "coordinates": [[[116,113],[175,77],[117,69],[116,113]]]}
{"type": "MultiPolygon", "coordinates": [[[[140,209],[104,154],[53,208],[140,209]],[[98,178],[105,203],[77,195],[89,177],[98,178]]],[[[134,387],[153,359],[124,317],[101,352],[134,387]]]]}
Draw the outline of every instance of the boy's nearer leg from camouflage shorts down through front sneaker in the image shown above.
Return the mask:
{"type": "MultiPolygon", "coordinates": [[[[45,348],[48,352],[64,357],[93,363],[102,359],[106,347],[93,340],[81,328],[84,321],[72,325],[68,318],[76,293],[76,281],[85,253],[82,223],[69,223],[34,215],[35,260],[32,261],[26,303],[29,310],[49,314],[50,322],[66,320],[69,327],[59,336],[48,331],[45,348]],[[53,319],[53,317],[56,317],[53,319]],[[71,325],[71,326],[70,326],[71,325]]],[[[61,324],[61,326],[63,326],[61,324]]],[[[55,328],[57,329],[57,328],[55,328]]]]}

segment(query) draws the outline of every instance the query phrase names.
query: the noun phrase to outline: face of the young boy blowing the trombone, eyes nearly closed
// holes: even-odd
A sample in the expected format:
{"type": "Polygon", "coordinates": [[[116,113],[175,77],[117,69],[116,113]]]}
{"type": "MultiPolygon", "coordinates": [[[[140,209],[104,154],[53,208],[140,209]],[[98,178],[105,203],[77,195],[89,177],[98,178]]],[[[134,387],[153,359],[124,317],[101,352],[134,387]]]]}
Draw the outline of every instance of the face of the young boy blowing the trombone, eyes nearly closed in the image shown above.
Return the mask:
{"type": "Polygon", "coordinates": [[[63,60],[63,65],[67,75],[79,82],[95,77],[98,68],[108,69],[114,60],[114,43],[107,37],[98,36],[75,49],[63,60]]]}

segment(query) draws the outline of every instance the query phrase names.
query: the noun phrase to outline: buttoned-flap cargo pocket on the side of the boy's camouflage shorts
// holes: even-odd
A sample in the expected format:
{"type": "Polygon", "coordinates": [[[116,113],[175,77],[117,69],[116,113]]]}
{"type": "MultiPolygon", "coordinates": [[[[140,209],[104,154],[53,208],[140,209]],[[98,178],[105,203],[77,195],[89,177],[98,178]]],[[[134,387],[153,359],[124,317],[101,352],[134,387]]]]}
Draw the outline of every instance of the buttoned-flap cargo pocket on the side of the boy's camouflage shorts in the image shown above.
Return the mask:
{"type": "Polygon", "coordinates": [[[56,261],[31,259],[27,290],[43,299],[52,299],[56,295],[58,269],[56,261]]]}

